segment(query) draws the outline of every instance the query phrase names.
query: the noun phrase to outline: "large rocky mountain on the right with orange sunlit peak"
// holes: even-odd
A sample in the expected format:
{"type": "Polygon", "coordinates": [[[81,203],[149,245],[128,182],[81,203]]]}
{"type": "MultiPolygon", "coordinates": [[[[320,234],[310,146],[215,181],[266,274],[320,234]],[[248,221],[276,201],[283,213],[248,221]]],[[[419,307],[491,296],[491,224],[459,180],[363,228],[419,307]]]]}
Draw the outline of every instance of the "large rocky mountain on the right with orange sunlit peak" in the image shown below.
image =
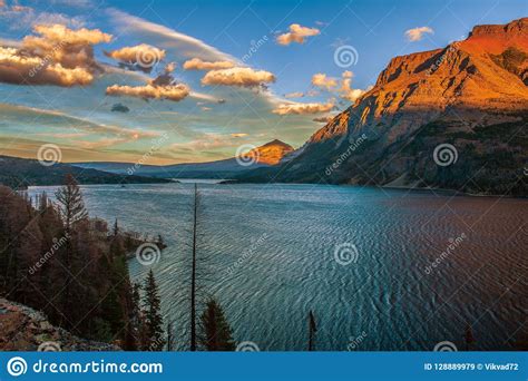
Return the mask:
{"type": "Polygon", "coordinates": [[[527,195],[528,18],[477,26],[393,58],[375,85],[287,163],[242,182],[310,182],[527,195]]]}

